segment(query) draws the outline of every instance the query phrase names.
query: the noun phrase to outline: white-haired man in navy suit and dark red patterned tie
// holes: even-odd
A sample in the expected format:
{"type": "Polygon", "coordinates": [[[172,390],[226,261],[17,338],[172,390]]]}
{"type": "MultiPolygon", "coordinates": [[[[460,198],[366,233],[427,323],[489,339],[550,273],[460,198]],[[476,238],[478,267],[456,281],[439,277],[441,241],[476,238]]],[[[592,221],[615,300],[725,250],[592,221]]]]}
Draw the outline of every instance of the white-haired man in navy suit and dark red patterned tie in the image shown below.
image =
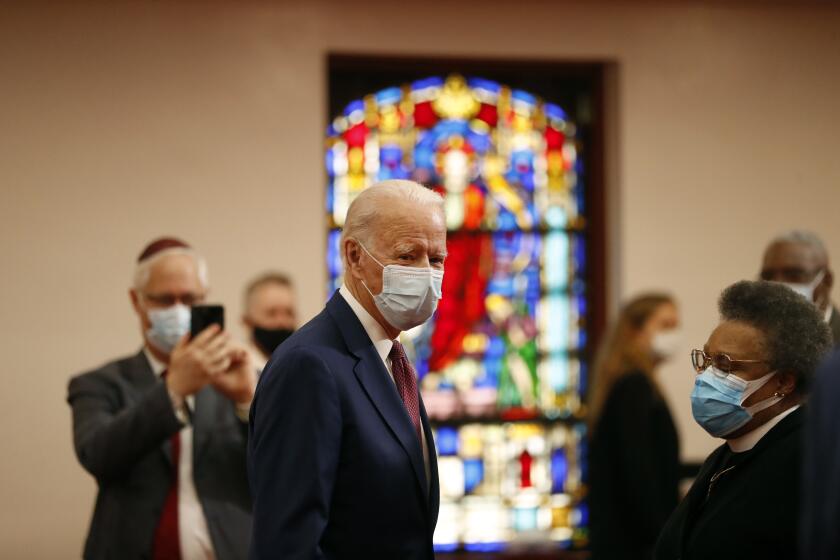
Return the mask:
{"type": "Polygon", "coordinates": [[[272,356],[251,408],[251,558],[432,560],[435,445],[397,341],[441,297],[443,201],[385,181],[353,201],[344,285],[272,356]]]}

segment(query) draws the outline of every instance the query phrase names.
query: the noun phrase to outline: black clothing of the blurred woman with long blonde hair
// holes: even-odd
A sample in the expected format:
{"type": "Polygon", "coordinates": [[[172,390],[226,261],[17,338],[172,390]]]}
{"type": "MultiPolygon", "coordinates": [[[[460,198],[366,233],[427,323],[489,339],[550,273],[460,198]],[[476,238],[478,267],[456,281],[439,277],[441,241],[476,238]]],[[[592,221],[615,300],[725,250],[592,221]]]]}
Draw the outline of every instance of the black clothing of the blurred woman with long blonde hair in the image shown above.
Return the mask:
{"type": "Polygon", "coordinates": [[[641,372],[607,395],[589,452],[592,560],[648,560],[677,506],[679,440],[668,405],[641,372]]]}

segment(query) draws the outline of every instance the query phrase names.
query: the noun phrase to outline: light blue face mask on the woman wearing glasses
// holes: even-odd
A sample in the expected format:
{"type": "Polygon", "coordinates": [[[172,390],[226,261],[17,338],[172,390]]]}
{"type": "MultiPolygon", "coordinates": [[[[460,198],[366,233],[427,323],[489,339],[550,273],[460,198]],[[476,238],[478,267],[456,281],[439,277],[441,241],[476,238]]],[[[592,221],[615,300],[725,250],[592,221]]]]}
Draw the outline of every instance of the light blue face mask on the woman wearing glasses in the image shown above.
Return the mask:
{"type": "Polygon", "coordinates": [[[776,375],[747,381],[737,375],[709,366],[694,380],[691,392],[691,413],[694,420],[714,437],[725,437],[752,420],[753,415],[771,407],[783,397],[771,397],[750,407],[743,403],[776,375]]]}

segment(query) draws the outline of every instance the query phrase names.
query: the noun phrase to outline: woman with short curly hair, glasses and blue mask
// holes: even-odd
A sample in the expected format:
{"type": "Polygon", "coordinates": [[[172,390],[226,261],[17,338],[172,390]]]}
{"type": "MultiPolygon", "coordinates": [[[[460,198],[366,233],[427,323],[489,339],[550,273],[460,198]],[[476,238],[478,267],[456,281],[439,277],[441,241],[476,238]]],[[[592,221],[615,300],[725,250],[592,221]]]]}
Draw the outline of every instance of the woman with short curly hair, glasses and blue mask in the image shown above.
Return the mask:
{"type": "Polygon", "coordinates": [[[691,354],[691,411],[725,443],[700,470],[656,544],[656,560],[796,558],[801,404],[831,347],[814,306],[772,282],[721,294],[720,324],[691,354]]]}

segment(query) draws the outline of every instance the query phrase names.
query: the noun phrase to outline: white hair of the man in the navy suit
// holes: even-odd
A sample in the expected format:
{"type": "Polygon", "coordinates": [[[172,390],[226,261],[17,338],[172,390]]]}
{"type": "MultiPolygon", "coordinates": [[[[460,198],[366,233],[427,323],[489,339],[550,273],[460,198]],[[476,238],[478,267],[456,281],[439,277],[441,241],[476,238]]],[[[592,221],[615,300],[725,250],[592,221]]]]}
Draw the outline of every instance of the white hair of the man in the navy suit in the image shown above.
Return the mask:
{"type": "Polygon", "coordinates": [[[340,245],[341,260],[345,269],[347,261],[344,255],[344,241],[353,238],[370,248],[370,240],[374,237],[379,218],[387,214],[390,205],[397,201],[437,208],[443,213],[443,197],[420,183],[389,179],[371,185],[359,193],[347,210],[340,245]]]}

